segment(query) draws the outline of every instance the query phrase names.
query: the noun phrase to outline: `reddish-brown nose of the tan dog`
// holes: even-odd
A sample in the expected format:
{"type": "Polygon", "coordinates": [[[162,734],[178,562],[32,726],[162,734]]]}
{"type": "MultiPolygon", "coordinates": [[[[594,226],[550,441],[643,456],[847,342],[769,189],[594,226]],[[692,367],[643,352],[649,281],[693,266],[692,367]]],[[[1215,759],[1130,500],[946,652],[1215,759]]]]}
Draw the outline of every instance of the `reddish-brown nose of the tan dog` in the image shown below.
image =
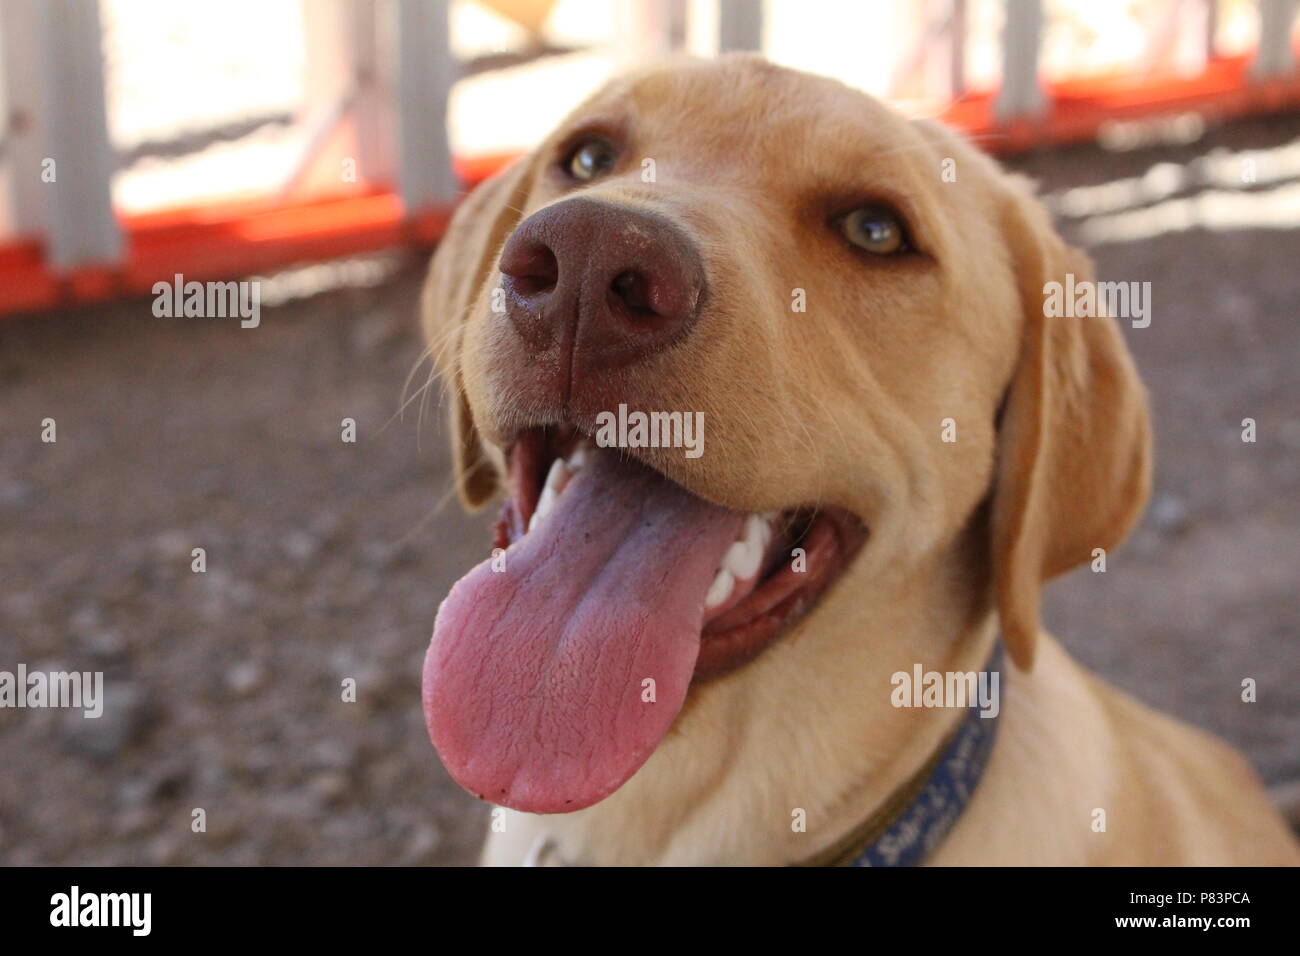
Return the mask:
{"type": "Polygon", "coordinates": [[[572,349],[575,377],[680,341],[705,287],[699,254],[668,220],[575,196],[529,216],[500,254],[506,313],[533,349],[572,349]]]}

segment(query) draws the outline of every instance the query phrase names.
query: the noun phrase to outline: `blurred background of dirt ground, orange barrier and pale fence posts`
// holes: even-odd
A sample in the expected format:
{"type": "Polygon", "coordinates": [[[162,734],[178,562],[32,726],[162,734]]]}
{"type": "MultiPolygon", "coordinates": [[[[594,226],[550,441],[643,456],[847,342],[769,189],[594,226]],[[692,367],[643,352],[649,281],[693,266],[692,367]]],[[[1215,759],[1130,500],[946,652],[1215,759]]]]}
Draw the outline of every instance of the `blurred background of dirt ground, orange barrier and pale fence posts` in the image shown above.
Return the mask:
{"type": "Polygon", "coordinates": [[[961,126],[1102,278],[1152,282],[1126,328],[1152,505],[1046,624],[1295,801],[1296,13],[0,0],[0,670],[107,682],[99,721],[0,709],[0,862],[473,861],[486,808],[438,765],[419,675],[491,516],[460,512],[421,390],[421,273],[458,198],[607,77],[727,49],[961,126]],[[155,317],[178,273],[257,278],[260,324],[155,317]]]}

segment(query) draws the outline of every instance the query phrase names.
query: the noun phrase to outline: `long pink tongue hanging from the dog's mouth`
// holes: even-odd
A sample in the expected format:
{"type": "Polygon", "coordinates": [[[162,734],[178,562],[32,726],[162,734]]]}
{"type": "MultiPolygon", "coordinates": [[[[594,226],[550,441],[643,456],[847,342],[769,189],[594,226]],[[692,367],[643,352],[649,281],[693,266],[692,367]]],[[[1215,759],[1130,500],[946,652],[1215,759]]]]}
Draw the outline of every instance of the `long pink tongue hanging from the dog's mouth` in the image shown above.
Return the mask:
{"type": "Polygon", "coordinates": [[[478,564],[438,611],[424,715],[456,782],[563,813],[632,777],[681,709],[705,593],[744,520],[616,451],[589,454],[506,570],[478,564]]]}

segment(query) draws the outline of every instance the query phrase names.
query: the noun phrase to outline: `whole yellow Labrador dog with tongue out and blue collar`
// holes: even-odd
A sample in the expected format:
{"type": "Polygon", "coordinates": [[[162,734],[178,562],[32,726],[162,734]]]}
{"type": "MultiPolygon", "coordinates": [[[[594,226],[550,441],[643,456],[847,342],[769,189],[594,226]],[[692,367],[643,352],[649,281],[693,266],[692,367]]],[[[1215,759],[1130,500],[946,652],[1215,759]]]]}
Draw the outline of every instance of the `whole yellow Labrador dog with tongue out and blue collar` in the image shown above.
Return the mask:
{"type": "Polygon", "coordinates": [[[504,506],[422,697],[485,864],[1300,860],[1240,756],[1040,627],[1150,486],[1067,274],[1027,181],[753,55],[615,79],[468,195],[422,325],[459,496],[504,506]],[[654,440],[597,441],[627,410],[654,440]],[[997,715],[900,705],[931,672],[997,715]]]}

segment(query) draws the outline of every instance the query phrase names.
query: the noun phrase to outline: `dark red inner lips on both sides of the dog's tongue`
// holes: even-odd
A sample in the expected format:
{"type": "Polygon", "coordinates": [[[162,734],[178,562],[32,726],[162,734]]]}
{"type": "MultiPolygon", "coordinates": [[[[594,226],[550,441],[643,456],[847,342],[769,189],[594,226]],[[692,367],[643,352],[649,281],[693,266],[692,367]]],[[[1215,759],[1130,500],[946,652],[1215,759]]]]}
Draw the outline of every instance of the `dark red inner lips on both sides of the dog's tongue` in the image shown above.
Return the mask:
{"type": "MultiPolygon", "coordinates": [[[[494,546],[508,548],[526,533],[550,460],[567,455],[582,436],[572,428],[534,428],[510,449],[512,493],[497,522],[494,546]]],[[[842,509],[788,509],[785,554],[759,576],[750,593],[722,614],[706,618],[696,678],[727,674],[771,646],[811,611],[853,561],[866,525],[842,509]],[[796,555],[794,549],[801,549],[796,555]]]]}

